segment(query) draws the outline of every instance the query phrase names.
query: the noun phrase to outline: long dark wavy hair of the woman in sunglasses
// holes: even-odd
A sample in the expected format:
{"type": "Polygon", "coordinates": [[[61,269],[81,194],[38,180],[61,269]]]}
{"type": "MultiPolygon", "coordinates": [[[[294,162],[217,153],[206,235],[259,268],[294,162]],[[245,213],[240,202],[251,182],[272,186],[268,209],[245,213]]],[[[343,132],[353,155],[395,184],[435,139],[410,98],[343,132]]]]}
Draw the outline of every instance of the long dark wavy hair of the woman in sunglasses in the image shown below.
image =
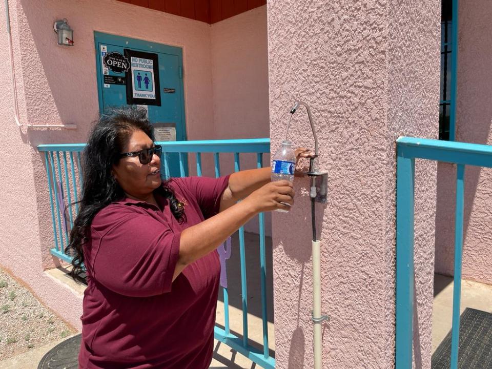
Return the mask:
{"type": "MultiPolygon", "coordinates": [[[[144,131],[154,140],[153,127],[145,110],[136,107],[113,109],[95,122],[82,154],[81,175],[84,188],[79,201],[80,211],[70,232],[67,253],[73,256],[70,276],[76,281],[84,280],[84,244],[92,219],[111,202],[125,196],[125,192],[113,178],[111,169],[120,160],[120,153],[135,131],[144,131]]],[[[182,204],[176,199],[167,181],[157,190],[167,198],[174,217],[181,221],[184,214],[182,204]]]]}

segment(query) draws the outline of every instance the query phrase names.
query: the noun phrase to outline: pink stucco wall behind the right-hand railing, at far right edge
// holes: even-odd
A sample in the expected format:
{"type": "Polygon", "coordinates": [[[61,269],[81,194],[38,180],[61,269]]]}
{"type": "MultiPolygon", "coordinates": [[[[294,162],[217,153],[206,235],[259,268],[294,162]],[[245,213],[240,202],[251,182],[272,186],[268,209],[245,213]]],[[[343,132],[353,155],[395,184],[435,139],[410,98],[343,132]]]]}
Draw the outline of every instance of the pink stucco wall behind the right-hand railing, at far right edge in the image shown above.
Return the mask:
{"type": "MultiPolygon", "coordinates": [[[[492,3],[460,2],[456,139],[492,144],[492,3]]],[[[463,277],[492,284],[492,171],[466,167],[463,277]]],[[[436,272],[453,275],[456,167],[440,163],[436,272]]]]}

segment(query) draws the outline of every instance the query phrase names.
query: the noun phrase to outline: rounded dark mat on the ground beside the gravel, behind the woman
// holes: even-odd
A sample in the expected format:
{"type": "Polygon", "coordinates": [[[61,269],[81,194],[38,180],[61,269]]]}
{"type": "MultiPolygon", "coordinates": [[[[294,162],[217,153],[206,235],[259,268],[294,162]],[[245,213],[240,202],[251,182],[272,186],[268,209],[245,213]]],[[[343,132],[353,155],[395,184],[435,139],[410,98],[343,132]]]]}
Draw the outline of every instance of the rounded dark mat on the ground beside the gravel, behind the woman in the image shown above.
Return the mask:
{"type": "Polygon", "coordinates": [[[58,343],[43,356],[37,369],[77,369],[80,335],[58,343]]]}

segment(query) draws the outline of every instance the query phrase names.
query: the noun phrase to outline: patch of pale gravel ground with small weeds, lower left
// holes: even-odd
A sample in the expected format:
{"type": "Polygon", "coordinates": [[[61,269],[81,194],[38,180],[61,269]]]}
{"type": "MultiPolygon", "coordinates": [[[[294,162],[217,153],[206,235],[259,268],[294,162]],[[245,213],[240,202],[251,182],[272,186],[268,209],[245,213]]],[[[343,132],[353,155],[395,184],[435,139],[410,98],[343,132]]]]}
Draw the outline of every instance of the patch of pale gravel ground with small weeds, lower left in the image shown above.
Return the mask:
{"type": "Polygon", "coordinates": [[[0,360],[76,331],[0,269],[0,360]]]}

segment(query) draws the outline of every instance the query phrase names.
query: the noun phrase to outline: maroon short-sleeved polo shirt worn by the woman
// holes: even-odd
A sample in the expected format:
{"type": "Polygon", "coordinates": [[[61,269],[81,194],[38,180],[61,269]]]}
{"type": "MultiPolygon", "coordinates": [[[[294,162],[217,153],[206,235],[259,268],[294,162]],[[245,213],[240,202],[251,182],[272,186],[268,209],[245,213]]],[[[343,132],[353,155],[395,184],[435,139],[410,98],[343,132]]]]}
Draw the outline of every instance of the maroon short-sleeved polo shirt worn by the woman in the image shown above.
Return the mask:
{"type": "Polygon", "coordinates": [[[185,203],[179,223],[159,208],[124,199],[92,220],[84,245],[87,289],[79,367],[205,369],[212,360],[220,263],[217,251],[172,282],[181,232],[219,211],[229,177],[173,178],[185,203]]]}

